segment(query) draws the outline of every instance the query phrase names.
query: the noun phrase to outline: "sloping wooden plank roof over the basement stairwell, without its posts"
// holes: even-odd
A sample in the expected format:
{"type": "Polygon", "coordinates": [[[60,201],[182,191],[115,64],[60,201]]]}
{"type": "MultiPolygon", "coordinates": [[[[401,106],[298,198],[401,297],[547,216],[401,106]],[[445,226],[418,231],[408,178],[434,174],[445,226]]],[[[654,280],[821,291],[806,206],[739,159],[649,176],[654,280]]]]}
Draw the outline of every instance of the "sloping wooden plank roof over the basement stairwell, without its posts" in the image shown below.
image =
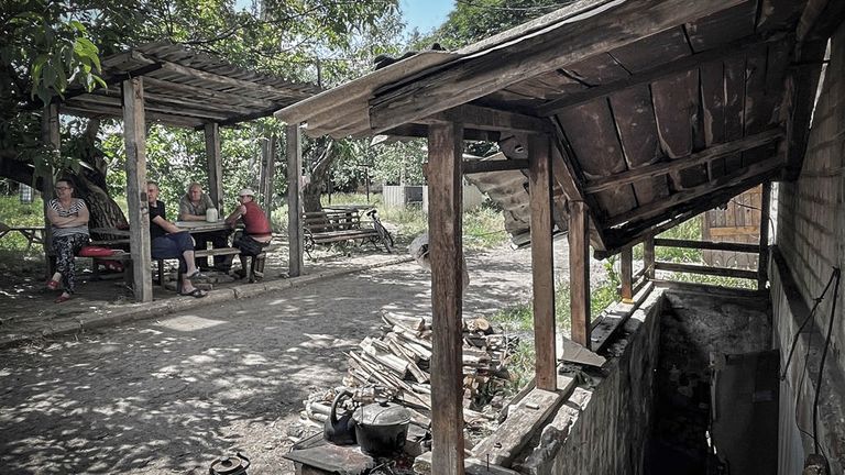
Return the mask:
{"type": "Polygon", "coordinates": [[[800,167],[824,54],[812,24],[831,8],[582,0],[276,117],[314,136],[425,136],[443,121],[461,122],[467,140],[550,134],[553,186],[588,205],[603,256],[800,167]]]}

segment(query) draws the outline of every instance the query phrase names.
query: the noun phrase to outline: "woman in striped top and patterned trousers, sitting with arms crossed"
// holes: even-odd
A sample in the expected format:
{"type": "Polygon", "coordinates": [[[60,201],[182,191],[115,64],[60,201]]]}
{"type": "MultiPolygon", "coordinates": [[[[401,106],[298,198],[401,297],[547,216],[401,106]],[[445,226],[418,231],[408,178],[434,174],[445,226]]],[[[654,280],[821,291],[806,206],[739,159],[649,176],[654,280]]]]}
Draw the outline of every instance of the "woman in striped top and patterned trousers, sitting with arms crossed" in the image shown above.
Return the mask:
{"type": "Polygon", "coordinates": [[[70,299],[76,289],[74,256],[88,244],[88,207],[74,198],[74,185],[69,179],[56,181],[56,198],[47,203],[47,220],[53,233],[52,247],[56,255],[56,273],[47,280],[47,288],[55,290],[64,285],[56,303],[70,299]]]}

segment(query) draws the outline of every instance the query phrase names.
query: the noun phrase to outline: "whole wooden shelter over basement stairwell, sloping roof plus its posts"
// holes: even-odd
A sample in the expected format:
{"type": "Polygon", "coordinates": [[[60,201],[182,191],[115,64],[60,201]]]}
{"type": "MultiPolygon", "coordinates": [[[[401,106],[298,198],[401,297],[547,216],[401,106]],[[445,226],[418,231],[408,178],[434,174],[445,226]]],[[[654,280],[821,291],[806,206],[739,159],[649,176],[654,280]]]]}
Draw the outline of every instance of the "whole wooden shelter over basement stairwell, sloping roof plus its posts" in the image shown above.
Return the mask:
{"type": "Polygon", "coordinates": [[[484,170],[529,178],[536,384],[555,390],[553,221],[569,230],[572,340],[590,349],[591,245],[599,257],[622,253],[630,297],[634,244],[800,169],[826,43],[815,32],[835,3],[582,0],[276,113],[315,136],[428,139],[432,473],[463,473],[454,263],[461,174],[478,166],[462,163],[463,141],[517,137],[527,148],[525,159],[503,147],[512,159],[484,170]]]}

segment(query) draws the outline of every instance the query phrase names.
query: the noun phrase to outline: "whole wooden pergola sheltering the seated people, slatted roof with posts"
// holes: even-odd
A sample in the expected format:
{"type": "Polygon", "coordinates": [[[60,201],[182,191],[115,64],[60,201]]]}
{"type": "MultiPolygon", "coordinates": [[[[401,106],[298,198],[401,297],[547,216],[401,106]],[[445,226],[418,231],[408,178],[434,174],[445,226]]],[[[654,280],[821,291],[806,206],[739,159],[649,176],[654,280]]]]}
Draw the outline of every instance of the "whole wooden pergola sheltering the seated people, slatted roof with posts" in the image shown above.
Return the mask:
{"type": "MultiPolygon", "coordinates": [[[[92,92],[70,90],[61,101],[57,98],[46,108],[44,141],[58,150],[59,113],[123,119],[134,295],[139,301],[150,301],[153,292],[145,124],[160,122],[205,131],[209,196],[222,210],[220,128],[268,117],[312,96],[318,89],[245,70],[169,42],[151,43],[109,56],[102,60],[102,68],[107,88],[92,92]]],[[[270,169],[263,175],[272,183],[268,177],[272,177],[273,162],[267,162],[270,169]]],[[[51,185],[45,184],[45,190],[51,185]]],[[[262,188],[268,189],[267,186],[262,188]]],[[[296,198],[293,199],[298,201],[296,198]]],[[[298,259],[292,256],[290,266],[292,275],[298,275],[301,256],[298,259]]]]}

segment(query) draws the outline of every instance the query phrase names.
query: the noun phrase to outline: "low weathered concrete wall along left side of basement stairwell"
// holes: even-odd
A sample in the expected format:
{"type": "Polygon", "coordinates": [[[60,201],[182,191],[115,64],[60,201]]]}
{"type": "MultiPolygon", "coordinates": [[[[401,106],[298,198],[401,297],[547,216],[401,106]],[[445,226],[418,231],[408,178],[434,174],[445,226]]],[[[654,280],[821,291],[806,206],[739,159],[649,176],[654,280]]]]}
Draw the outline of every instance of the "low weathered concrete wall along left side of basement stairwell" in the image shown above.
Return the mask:
{"type": "Polygon", "coordinates": [[[516,470],[537,475],[644,473],[662,305],[655,291],[632,316],[624,338],[611,346],[618,357],[603,377],[575,389],[516,470]]]}

